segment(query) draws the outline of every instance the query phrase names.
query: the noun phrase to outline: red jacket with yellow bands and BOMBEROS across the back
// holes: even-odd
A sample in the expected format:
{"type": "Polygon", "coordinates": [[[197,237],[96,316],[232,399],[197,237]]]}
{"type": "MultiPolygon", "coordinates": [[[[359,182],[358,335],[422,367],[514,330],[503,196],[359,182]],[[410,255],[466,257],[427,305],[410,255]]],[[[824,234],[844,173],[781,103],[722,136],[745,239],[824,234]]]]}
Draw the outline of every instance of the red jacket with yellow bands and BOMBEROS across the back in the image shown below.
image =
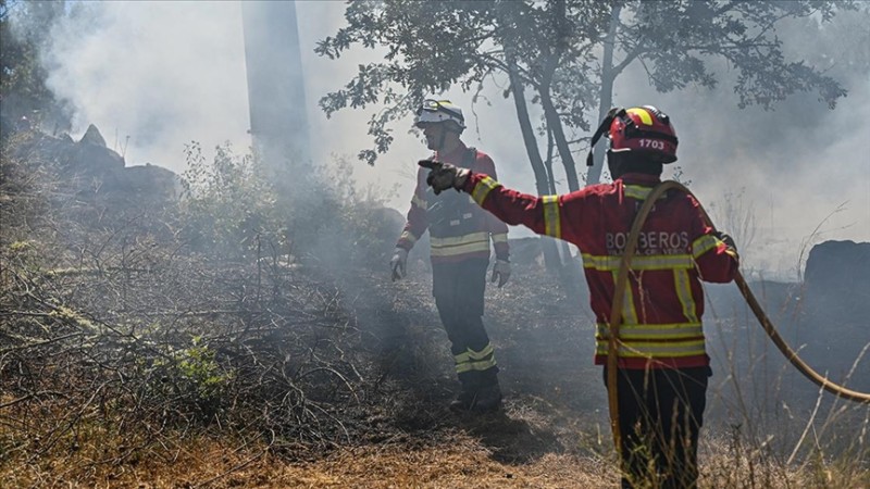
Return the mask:
{"type": "MultiPolygon", "coordinates": [[[[606,364],[608,322],[621,255],[634,217],[660,179],[626,174],[561,195],[536,197],[502,187],[472,173],[463,190],[507,224],[580,248],[597,322],[595,363],[606,364]]],[[[705,223],[698,202],[684,192],[666,192],[656,202],[632,259],[620,325],[622,368],[709,365],[701,315],[700,280],[731,281],[737,255],[705,223]]]]}

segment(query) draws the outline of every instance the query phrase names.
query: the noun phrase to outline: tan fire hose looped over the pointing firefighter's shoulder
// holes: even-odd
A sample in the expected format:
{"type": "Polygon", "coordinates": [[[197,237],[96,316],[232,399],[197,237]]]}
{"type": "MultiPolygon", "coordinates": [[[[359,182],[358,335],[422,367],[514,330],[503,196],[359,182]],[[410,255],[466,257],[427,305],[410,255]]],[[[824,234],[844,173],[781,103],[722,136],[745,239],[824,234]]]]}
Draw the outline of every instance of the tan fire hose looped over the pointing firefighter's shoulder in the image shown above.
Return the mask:
{"type": "MultiPolygon", "coordinates": [[[[620,263],[619,274],[617,275],[617,283],[613,293],[613,304],[610,309],[610,337],[608,339],[608,350],[607,350],[607,398],[608,398],[608,405],[610,408],[610,428],[613,432],[613,442],[619,453],[621,447],[621,434],[619,429],[619,398],[617,394],[617,368],[618,368],[618,360],[619,360],[619,326],[622,316],[622,303],[625,293],[625,283],[629,279],[629,271],[631,269],[632,258],[634,256],[634,252],[637,248],[637,238],[641,234],[641,228],[644,226],[647,216],[649,215],[649,211],[652,209],[656,200],[666,191],[670,189],[676,189],[688,193],[692,196],[692,192],[679,181],[673,180],[666,180],[661,184],[657,185],[652,191],[649,192],[644,204],[641,206],[639,211],[637,212],[637,216],[634,218],[632,223],[631,233],[629,234],[629,240],[625,244],[625,252],[622,254],[622,261],[620,263]]],[[[694,197],[694,196],[693,196],[694,197]]],[[[710,216],[707,215],[707,212],[704,211],[704,208],[699,205],[700,212],[704,215],[704,220],[710,227],[713,227],[712,221],[710,221],[710,216]]],[[[858,392],[855,390],[847,389],[843,386],[834,384],[828,378],[819,375],[816,371],[813,371],[809,365],[807,365],[798,355],[797,352],[794,351],[785,340],[780,336],[776,328],[771,323],[770,318],[768,318],[765,311],[761,309],[761,305],[758,303],[758,300],[753,294],[753,291],[749,290],[749,286],[746,284],[746,279],[743,278],[743,275],[737,271],[734,276],[734,283],[737,285],[741,293],[743,294],[744,299],[746,299],[746,303],[749,305],[749,309],[753,310],[756,318],[761,324],[761,327],[765,329],[765,333],[768,334],[773,343],[776,348],[780,349],[782,354],[788,360],[788,362],[794,365],[798,372],[804,374],[807,378],[812,380],[816,385],[821,387],[822,389],[826,390],[828,392],[833,393],[834,396],[847,399],[849,401],[856,402],[865,402],[870,403],[870,393],[858,392]]]]}

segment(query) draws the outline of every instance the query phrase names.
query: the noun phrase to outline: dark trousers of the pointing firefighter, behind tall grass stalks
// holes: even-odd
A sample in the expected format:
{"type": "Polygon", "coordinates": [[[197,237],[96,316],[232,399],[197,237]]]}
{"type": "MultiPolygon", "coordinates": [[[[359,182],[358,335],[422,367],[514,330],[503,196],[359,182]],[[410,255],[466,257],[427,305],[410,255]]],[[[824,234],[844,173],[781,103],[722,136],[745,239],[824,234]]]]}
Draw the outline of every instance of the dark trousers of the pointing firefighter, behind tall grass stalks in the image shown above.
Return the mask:
{"type": "MultiPolygon", "coordinates": [[[[622,487],[695,488],[710,367],[621,368],[622,487]]],[[[607,367],[605,367],[607,385],[607,367]]]]}

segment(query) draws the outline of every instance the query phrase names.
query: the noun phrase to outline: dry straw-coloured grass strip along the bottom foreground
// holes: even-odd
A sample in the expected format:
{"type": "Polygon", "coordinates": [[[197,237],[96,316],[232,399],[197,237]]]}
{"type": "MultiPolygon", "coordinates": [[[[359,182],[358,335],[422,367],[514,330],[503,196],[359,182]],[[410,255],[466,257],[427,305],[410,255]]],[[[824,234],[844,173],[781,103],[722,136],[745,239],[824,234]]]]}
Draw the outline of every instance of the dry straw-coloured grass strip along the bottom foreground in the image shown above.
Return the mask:
{"type": "MultiPolygon", "coordinates": [[[[520,465],[493,460],[477,440],[457,434],[438,444],[345,447],[288,462],[265,442],[231,443],[195,436],[121,464],[99,463],[113,440],[21,464],[4,463],[2,487],[260,488],[566,488],[612,487],[600,460],[550,453],[520,465]]],[[[119,449],[119,447],[113,447],[119,449]]],[[[7,461],[11,462],[11,461],[7,461]]]]}

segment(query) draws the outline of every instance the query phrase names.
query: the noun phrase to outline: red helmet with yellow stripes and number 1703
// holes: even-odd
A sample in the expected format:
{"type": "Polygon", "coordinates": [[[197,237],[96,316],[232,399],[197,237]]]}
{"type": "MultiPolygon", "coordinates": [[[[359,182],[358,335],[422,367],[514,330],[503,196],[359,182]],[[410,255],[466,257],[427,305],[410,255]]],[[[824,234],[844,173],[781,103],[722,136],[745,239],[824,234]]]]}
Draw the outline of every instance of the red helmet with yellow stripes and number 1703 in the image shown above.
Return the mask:
{"type": "MultiPolygon", "coordinates": [[[[592,146],[605,130],[612,152],[636,151],[658,163],[676,161],[676,131],[670,117],[652,105],[611,109],[593,136],[592,146]]],[[[587,164],[592,166],[592,151],[587,164]]]]}

